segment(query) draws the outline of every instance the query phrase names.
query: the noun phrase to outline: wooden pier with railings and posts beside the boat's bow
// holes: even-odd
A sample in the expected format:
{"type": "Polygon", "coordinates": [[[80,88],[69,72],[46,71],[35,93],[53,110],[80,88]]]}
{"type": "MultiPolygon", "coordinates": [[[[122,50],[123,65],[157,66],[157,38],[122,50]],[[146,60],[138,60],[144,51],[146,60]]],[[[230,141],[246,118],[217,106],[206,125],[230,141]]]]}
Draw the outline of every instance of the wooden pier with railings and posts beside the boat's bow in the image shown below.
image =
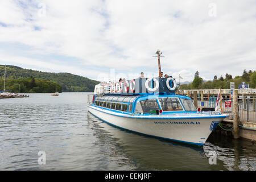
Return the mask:
{"type": "MultiPolygon", "coordinates": [[[[183,94],[191,97],[196,107],[204,107],[200,106],[198,103],[200,101],[209,101],[209,98],[212,96],[217,97],[218,92],[219,89],[177,90],[176,94],[183,94]]],[[[221,122],[221,125],[216,127],[214,133],[233,137],[234,139],[243,138],[256,141],[256,89],[234,89],[233,94],[231,94],[230,89],[221,89],[221,95],[225,100],[232,101],[232,109],[229,113],[230,117],[225,118],[224,121],[221,122]],[[241,106],[241,102],[246,99],[251,100],[251,104],[253,105],[252,110],[246,111],[239,107],[238,100],[240,101],[241,106]],[[250,121],[246,121],[244,118],[242,118],[242,115],[246,114],[254,115],[254,117],[250,121]]]]}

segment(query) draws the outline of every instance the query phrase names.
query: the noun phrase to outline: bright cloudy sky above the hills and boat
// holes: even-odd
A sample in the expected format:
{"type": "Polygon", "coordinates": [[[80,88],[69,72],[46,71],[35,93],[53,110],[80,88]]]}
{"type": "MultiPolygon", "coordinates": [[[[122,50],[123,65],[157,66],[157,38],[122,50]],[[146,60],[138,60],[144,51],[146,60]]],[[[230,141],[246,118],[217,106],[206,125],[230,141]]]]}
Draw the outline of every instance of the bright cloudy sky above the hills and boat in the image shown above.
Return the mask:
{"type": "Polygon", "coordinates": [[[256,68],[256,1],[0,0],[0,64],[102,80],[256,68]]]}

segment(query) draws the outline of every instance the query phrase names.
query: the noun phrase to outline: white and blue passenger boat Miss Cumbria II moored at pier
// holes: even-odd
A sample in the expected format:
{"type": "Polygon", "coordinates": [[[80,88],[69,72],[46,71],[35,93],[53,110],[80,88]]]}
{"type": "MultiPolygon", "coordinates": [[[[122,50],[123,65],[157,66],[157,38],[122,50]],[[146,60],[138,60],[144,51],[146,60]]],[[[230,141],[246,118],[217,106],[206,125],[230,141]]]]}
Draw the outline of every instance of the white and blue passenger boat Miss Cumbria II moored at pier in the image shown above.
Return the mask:
{"type": "Polygon", "coordinates": [[[203,146],[227,114],[200,111],[176,95],[173,78],[138,78],[96,85],[88,110],[97,118],[135,133],[203,146]]]}

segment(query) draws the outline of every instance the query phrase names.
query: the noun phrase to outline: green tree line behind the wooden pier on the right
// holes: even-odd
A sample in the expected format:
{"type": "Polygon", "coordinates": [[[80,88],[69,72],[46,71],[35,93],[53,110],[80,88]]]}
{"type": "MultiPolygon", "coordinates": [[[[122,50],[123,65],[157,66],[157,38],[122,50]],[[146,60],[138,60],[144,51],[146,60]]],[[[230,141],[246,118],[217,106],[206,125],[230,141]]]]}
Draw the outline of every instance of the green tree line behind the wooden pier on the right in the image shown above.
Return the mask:
{"type": "Polygon", "coordinates": [[[230,82],[235,83],[235,88],[238,89],[238,85],[241,85],[242,82],[249,84],[250,88],[256,88],[256,72],[255,71],[246,71],[245,69],[242,72],[242,76],[232,77],[226,73],[225,78],[221,75],[219,78],[217,75],[213,77],[213,80],[204,81],[203,78],[199,76],[199,72],[196,71],[194,79],[191,84],[183,84],[180,86],[180,89],[230,89],[230,82]]]}

